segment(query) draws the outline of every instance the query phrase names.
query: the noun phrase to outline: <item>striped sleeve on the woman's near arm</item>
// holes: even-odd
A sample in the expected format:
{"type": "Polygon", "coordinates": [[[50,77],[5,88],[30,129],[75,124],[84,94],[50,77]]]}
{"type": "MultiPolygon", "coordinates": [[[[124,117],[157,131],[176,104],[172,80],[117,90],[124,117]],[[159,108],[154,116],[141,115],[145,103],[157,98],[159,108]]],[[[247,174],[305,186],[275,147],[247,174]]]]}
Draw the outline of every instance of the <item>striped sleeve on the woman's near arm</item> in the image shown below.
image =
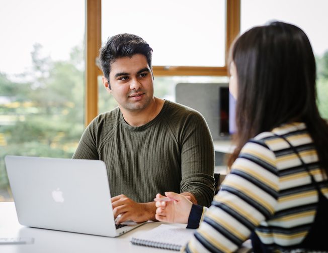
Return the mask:
{"type": "Polygon", "coordinates": [[[248,142],[183,250],[235,251],[260,222],[274,214],[278,186],[274,153],[261,142],[248,142]]]}

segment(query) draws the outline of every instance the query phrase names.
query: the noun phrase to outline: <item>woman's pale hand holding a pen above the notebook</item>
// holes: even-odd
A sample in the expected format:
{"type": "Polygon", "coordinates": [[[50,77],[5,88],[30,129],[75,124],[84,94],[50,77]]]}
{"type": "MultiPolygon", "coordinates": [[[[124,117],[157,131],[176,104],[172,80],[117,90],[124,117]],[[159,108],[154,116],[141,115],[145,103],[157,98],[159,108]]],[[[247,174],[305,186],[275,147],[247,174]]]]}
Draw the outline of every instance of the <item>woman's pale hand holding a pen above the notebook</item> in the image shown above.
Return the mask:
{"type": "Polygon", "coordinates": [[[159,221],[188,223],[193,203],[188,199],[190,196],[175,192],[166,192],[165,196],[156,194],[156,215],[159,221]],[[163,200],[161,200],[163,199],[163,200]],[[165,200],[165,201],[164,201],[165,200]]]}

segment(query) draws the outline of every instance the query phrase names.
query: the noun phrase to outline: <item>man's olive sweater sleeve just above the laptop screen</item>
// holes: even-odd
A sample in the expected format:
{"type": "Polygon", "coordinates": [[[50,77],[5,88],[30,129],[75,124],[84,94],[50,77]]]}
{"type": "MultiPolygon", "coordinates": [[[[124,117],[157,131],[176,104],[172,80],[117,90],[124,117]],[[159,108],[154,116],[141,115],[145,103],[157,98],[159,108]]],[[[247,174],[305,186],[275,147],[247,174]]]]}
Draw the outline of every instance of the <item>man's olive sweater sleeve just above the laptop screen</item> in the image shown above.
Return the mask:
{"type": "Polygon", "coordinates": [[[73,159],[99,160],[96,143],[96,120],[94,119],[83,133],[73,159]]]}

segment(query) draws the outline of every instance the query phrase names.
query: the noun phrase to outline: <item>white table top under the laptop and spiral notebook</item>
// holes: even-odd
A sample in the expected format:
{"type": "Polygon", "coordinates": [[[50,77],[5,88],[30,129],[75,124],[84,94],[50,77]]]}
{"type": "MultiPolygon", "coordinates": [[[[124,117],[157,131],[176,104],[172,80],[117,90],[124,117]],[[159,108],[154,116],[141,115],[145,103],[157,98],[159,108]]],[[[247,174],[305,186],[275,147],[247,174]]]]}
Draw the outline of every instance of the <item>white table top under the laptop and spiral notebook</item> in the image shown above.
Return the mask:
{"type": "MultiPolygon", "coordinates": [[[[19,224],[14,202],[0,202],[0,238],[33,237],[31,244],[0,245],[2,253],[83,253],[83,252],[174,252],[166,249],[133,245],[132,235],[143,233],[159,226],[161,222],[150,222],[116,238],[31,228],[19,224]]],[[[182,224],[175,224],[182,225],[182,224]]],[[[186,226],[186,225],[184,225],[186,226]]]]}

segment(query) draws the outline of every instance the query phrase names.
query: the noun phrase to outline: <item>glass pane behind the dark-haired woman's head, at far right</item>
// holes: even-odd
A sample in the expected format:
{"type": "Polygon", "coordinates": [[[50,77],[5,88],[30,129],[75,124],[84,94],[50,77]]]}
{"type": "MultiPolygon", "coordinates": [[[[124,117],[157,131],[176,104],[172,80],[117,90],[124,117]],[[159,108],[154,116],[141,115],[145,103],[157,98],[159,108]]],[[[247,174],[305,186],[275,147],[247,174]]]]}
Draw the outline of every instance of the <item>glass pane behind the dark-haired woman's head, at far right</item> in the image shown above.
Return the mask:
{"type": "Polygon", "coordinates": [[[253,26],[279,20],[300,27],[308,36],[317,63],[318,106],[328,119],[328,1],[241,0],[241,33],[253,26]],[[256,12],[256,15],[254,13],[256,12]]]}

